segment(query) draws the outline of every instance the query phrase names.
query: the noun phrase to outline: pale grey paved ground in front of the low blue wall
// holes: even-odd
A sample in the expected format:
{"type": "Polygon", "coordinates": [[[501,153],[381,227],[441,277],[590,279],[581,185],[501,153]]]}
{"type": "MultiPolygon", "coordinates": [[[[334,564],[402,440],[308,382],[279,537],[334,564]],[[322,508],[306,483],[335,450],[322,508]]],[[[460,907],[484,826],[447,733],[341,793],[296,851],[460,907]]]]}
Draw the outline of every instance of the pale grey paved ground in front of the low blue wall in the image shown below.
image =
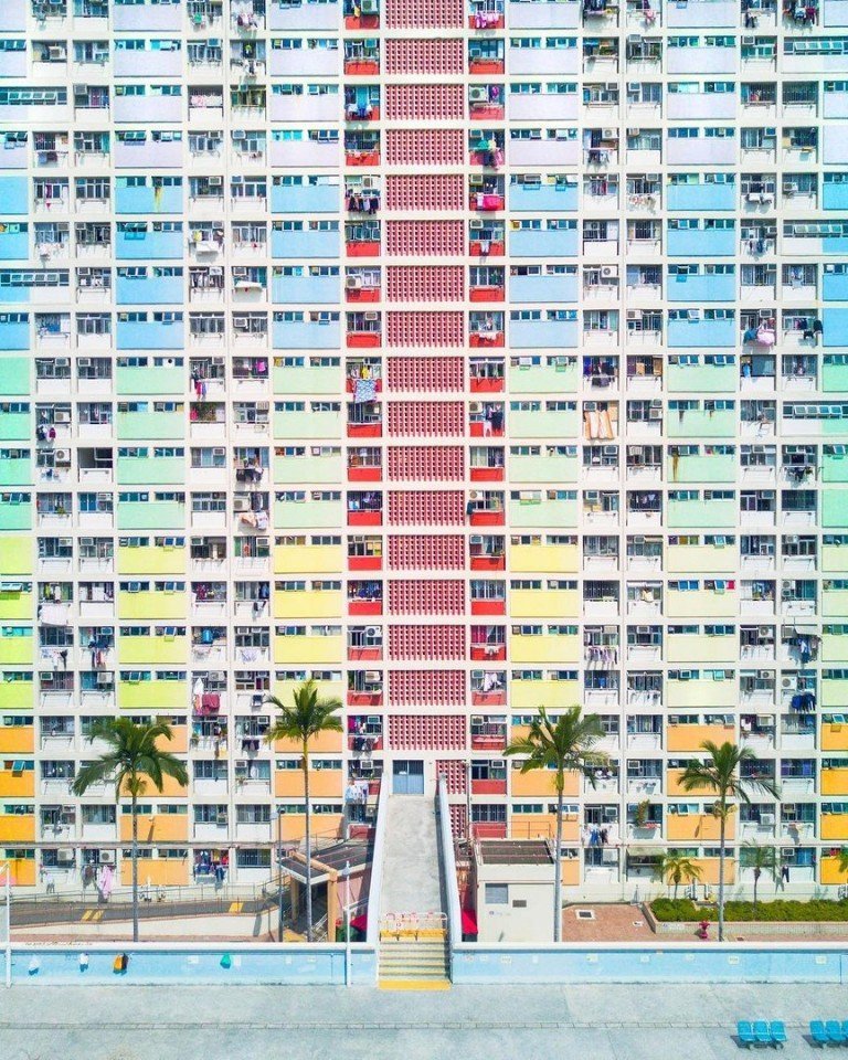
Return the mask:
{"type": "Polygon", "coordinates": [[[3,1060],[687,1060],[741,1057],[739,1018],[784,1019],[813,1058],[839,986],[505,986],[443,994],[331,987],[50,987],[0,993],[3,1060]]]}

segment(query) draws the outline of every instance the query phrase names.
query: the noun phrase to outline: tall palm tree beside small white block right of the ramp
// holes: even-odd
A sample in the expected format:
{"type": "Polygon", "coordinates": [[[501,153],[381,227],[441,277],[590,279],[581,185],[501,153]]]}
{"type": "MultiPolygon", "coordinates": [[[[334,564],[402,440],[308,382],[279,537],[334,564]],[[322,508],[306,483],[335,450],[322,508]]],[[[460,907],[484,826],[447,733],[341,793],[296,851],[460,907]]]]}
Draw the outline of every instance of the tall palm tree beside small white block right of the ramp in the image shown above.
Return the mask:
{"type": "Polygon", "coordinates": [[[544,707],[530,725],[526,736],[511,743],[505,754],[524,756],[522,773],[532,770],[553,770],[556,789],[556,847],[553,875],[553,941],[562,940],[562,803],[565,792],[565,774],[580,772],[595,786],[593,766],[601,765],[606,756],[593,751],[593,745],[604,735],[597,714],[582,716],[580,707],[570,707],[555,722],[548,717],[544,707]]]}

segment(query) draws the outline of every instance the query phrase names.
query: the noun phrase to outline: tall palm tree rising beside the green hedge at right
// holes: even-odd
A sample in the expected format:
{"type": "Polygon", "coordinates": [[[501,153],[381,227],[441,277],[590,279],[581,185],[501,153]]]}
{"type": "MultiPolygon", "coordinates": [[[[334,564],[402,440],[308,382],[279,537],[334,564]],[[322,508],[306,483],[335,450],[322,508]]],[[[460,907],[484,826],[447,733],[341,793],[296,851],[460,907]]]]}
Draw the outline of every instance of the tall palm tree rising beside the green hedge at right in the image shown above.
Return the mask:
{"type": "Polygon", "coordinates": [[[712,813],[719,818],[719,942],[724,940],[724,850],[727,848],[728,819],[735,809],[736,802],[750,803],[748,788],[766,792],[778,798],[777,785],[766,776],[750,776],[742,780],[741,767],[745,762],[755,762],[756,755],[750,748],[740,748],[735,743],[722,743],[719,746],[711,740],[701,744],[707,753],[706,762],[690,762],[680,777],[680,787],[685,792],[706,788],[716,794],[712,813]]]}

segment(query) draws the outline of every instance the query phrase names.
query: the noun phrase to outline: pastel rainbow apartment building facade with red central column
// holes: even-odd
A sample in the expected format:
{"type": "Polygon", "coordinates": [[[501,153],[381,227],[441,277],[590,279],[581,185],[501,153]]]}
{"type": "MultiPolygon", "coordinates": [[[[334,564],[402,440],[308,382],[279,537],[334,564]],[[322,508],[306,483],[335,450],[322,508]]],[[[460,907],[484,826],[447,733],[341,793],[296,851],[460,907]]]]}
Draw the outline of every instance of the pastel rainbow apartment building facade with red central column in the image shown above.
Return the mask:
{"type": "Polygon", "coordinates": [[[0,38],[17,886],[128,879],[126,808],[71,794],[115,713],[189,766],[142,879],[266,879],[304,792],[264,699],[314,677],[319,836],[442,773],[457,835],[551,835],[504,750],[580,702],[572,893],[714,881],[710,739],[781,788],[732,879],[756,842],[836,894],[848,2],[4,0],[0,38]]]}

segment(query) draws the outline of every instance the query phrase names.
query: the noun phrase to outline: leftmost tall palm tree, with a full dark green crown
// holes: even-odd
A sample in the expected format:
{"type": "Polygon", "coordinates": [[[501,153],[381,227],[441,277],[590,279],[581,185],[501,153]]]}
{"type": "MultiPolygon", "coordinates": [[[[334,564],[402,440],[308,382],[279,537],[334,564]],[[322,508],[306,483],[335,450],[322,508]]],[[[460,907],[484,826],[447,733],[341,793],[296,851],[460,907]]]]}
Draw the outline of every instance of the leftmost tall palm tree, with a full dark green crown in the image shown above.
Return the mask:
{"type": "Polygon", "coordinates": [[[132,942],[138,942],[138,799],[147,791],[147,782],[161,795],[165,777],[187,785],[189,774],[183,762],[162,751],[159,742],[171,740],[171,727],[163,722],[136,724],[129,718],[104,718],[92,725],[88,739],[103,740],[109,750],[81,766],[74,781],[74,795],[85,795],[93,784],[115,782],[115,802],[129,795],[132,815],[132,942]]]}

